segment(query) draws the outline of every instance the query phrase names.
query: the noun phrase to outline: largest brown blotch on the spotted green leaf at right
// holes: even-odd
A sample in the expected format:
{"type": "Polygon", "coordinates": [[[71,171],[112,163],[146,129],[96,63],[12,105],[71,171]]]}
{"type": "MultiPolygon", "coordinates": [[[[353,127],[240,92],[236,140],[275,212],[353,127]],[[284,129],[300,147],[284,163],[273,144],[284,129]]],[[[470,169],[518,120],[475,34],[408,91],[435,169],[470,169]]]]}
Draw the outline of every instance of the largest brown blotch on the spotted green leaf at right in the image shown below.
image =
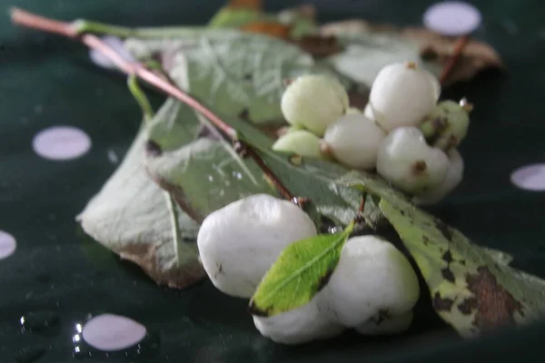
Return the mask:
{"type": "Polygon", "coordinates": [[[474,295],[476,309],[473,325],[481,331],[516,325],[514,314],[524,316],[520,302],[500,285],[488,267],[481,266],[477,274],[467,277],[468,289],[474,295]]]}

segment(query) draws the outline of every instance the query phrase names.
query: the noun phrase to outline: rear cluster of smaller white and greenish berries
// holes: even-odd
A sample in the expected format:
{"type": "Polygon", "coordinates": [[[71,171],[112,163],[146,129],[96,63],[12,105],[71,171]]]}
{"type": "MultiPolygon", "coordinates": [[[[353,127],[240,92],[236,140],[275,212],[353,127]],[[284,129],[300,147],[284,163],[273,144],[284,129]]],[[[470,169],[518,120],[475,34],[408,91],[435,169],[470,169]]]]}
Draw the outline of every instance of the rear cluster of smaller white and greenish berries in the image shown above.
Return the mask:
{"type": "Polygon", "coordinates": [[[438,103],[440,93],[437,78],[416,64],[389,64],[360,111],[350,107],[336,80],[303,75],[282,95],[282,113],[292,128],[272,148],[376,170],[415,202],[435,203],[461,182],[464,164],[456,148],[471,111],[465,100],[438,103]]]}

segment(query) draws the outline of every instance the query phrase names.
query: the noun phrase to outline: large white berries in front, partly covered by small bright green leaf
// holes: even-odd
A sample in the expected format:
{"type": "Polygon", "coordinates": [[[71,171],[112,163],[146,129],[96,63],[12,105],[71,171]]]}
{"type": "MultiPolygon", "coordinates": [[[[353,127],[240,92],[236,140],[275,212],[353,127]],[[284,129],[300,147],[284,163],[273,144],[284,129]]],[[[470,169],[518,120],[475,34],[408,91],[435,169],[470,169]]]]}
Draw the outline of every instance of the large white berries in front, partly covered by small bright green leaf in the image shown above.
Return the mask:
{"type": "MultiPolygon", "coordinates": [[[[317,235],[310,217],[290,201],[256,194],[213,211],[197,244],[204,270],[223,293],[249,299],[282,250],[317,235]]],[[[411,263],[378,236],[352,237],[329,281],[300,308],[263,317],[255,327],[282,344],[332,338],[347,328],[367,335],[408,329],[419,299],[411,263]]]]}

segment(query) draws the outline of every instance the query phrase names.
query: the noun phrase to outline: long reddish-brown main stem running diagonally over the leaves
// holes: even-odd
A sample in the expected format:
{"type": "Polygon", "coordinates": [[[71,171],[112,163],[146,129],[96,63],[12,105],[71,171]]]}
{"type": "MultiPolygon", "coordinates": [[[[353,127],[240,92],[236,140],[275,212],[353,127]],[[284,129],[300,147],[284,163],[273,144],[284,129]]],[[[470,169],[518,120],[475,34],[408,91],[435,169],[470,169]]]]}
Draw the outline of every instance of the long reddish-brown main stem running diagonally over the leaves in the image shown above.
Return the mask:
{"type": "Polygon", "coordinates": [[[204,117],[210,120],[210,122],[213,123],[221,132],[223,132],[223,134],[232,142],[237,142],[239,145],[242,145],[243,152],[246,152],[247,155],[259,165],[262,171],[272,181],[276,189],[282,194],[283,198],[292,201],[301,207],[303,206],[305,200],[303,198],[293,196],[293,194],[288,191],[288,189],[282,184],[276,175],[274,175],[272,170],[265,164],[265,162],[263,162],[263,159],[257,154],[257,152],[255,152],[255,150],[253,150],[252,145],[237,140],[237,134],[233,127],[229,126],[227,123],[224,123],[223,120],[220,119],[215,113],[206,108],[203,103],[199,103],[188,93],[184,93],[180,88],[176,87],[173,83],[170,83],[168,79],[163,78],[159,74],[155,74],[143,64],[125,60],[122,55],[118,54],[108,44],[104,44],[104,42],[97,36],[93,34],[78,34],[74,26],[70,23],[48,19],[17,8],[11,10],[11,19],[16,25],[38,29],[48,33],[60,34],[74,40],[79,40],[89,48],[104,54],[125,74],[134,74],[145,82],[154,85],[154,87],[160,91],[163,91],[163,93],[186,103],[188,106],[192,107],[193,110],[201,113],[204,117]]]}

